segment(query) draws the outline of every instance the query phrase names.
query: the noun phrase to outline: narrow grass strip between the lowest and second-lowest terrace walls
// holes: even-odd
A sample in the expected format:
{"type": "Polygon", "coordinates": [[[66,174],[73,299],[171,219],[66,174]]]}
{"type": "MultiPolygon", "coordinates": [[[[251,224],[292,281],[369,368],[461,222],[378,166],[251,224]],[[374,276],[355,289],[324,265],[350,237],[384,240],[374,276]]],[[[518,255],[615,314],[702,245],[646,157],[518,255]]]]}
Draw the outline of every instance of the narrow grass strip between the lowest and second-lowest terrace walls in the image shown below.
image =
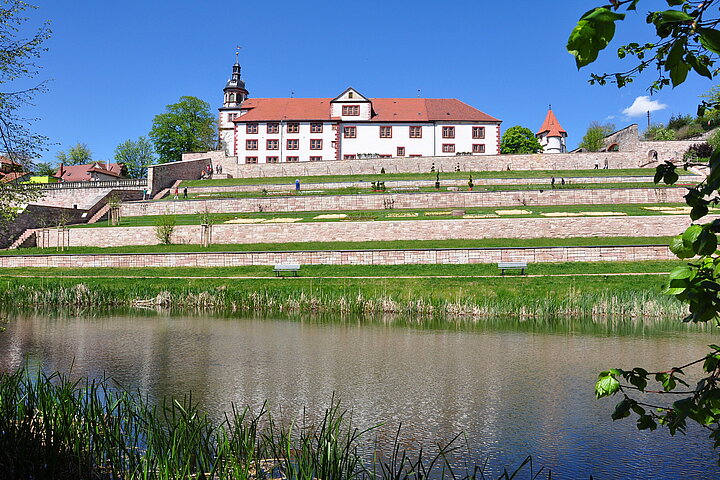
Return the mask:
{"type": "MultiPolygon", "coordinates": [[[[199,245],[135,245],[122,247],[68,247],[64,254],[169,253],[169,252],[287,252],[425,248],[538,248],[611,245],[669,245],[672,237],[487,238],[479,240],[397,240],[371,242],[291,242],[199,245]]],[[[0,255],[56,255],[56,248],[0,250],[0,255]]]]}

